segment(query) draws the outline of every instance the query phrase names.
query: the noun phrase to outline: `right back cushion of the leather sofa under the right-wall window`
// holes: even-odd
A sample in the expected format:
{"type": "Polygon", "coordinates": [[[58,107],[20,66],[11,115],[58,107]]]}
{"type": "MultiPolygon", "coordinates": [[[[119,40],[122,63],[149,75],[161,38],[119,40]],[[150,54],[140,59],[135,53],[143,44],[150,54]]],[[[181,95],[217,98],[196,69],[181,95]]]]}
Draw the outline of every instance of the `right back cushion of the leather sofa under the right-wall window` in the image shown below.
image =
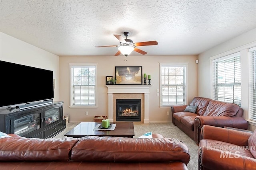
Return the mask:
{"type": "Polygon", "coordinates": [[[226,116],[231,117],[236,115],[239,106],[234,103],[220,102],[211,100],[204,112],[204,116],[226,116]]]}

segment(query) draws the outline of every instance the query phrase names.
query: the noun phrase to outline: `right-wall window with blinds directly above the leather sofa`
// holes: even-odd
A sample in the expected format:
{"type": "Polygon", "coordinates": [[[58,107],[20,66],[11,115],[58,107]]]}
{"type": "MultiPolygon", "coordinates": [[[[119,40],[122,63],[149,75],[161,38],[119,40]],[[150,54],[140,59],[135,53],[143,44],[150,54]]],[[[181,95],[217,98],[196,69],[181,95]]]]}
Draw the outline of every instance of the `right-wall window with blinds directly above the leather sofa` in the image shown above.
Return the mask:
{"type": "Polygon", "coordinates": [[[240,52],[212,61],[212,97],[241,106],[240,52]]]}

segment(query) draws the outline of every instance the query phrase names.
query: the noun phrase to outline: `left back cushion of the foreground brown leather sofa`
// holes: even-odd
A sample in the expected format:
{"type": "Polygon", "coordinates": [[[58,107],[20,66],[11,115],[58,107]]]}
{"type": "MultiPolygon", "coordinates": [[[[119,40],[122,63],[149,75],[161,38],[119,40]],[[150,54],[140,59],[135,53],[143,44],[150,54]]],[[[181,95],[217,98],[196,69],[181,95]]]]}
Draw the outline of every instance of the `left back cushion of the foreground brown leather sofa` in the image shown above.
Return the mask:
{"type": "Polygon", "coordinates": [[[6,137],[0,139],[1,161],[67,161],[79,139],[37,139],[6,137]]]}

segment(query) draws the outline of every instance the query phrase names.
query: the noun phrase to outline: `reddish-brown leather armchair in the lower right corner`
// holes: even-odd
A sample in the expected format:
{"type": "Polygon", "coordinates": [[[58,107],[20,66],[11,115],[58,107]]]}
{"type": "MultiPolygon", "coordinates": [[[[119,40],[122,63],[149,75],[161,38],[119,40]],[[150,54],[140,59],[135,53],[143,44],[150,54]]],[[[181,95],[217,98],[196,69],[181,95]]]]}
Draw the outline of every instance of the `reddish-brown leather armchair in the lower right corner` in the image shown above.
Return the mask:
{"type": "Polygon", "coordinates": [[[256,170],[256,130],[247,133],[204,125],[198,170],[256,170]]]}

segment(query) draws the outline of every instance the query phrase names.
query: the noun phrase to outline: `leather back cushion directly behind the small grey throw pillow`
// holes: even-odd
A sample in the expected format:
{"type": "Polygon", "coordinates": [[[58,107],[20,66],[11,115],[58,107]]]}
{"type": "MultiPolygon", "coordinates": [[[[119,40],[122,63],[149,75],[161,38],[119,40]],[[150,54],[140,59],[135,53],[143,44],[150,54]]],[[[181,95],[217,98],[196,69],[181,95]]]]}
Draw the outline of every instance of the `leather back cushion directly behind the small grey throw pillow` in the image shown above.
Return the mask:
{"type": "Polygon", "coordinates": [[[197,106],[196,114],[202,116],[206,111],[206,107],[208,106],[211,99],[209,98],[201,98],[201,97],[194,97],[191,102],[191,106],[197,106]]]}

